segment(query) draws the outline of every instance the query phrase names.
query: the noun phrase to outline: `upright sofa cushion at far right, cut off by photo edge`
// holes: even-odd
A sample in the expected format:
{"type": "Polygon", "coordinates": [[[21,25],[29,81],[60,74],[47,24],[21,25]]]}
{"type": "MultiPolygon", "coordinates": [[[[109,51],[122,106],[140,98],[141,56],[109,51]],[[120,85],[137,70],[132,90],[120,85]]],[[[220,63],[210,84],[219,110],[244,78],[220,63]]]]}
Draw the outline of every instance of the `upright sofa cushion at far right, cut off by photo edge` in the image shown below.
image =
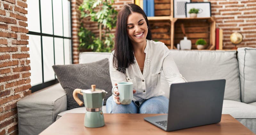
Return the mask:
{"type": "Polygon", "coordinates": [[[256,101],[256,48],[237,49],[239,76],[241,83],[241,100],[244,103],[256,101]]]}

